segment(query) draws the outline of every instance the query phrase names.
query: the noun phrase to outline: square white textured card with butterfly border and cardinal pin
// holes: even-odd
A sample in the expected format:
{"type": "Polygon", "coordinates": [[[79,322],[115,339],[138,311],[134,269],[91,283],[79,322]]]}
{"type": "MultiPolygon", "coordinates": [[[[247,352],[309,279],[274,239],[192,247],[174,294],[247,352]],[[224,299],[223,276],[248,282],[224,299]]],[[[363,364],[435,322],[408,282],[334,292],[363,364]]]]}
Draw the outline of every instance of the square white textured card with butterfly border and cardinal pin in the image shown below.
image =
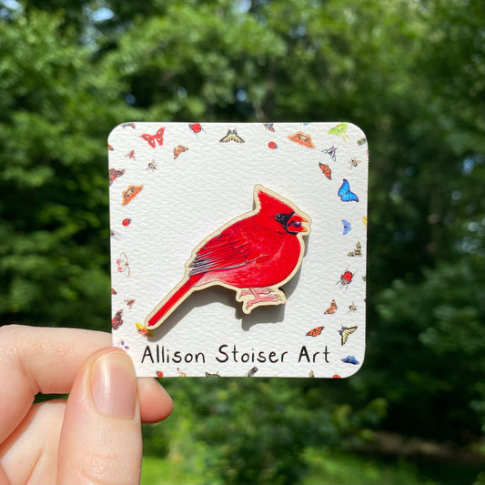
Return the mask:
{"type": "Polygon", "coordinates": [[[124,123],[108,148],[113,344],[138,376],[359,369],[369,152],[358,126],[124,123]]]}

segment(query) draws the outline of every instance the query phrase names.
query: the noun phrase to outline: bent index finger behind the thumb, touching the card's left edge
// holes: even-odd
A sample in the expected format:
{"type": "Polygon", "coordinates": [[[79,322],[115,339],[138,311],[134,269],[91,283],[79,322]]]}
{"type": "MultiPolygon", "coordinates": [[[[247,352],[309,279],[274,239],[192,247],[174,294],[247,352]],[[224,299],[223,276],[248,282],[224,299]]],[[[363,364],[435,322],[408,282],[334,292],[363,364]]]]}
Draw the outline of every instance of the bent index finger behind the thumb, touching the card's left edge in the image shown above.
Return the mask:
{"type": "Polygon", "coordinates": [[[70,391],[89,355],[111,345],[106,332],[8,325],[0,328],[0,442],[18,426],[35,394],[70,391]]]}

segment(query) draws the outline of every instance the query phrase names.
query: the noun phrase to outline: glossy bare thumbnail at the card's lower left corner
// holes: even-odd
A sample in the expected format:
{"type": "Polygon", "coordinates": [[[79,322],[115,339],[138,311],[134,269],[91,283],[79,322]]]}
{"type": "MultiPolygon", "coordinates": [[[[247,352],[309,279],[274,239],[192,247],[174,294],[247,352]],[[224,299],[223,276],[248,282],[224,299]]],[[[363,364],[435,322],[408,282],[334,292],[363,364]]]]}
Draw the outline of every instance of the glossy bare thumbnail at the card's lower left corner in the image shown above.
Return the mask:
{"type": "Polygon", "coordinates": [[[110,352],[96,359],[91,389],[99,412],[116,418],[135,417],[136,376],[126,354],[110,352]]]}

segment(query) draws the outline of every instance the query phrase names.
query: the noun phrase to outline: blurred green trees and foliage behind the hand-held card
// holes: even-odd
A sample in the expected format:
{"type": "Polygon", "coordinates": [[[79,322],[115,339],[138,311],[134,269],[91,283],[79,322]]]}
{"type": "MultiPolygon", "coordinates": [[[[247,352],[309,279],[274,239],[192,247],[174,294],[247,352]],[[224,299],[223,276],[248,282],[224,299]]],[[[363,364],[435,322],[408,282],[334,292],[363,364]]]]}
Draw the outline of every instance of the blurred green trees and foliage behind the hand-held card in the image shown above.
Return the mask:
{"type": "Polygon", "coordinates": [[[165,379],[144,483],[485,483],[479,0],[0,0],[0,323],[110,330],[106,138],[351,121],[369,140],[367,357],[165,379]]]}

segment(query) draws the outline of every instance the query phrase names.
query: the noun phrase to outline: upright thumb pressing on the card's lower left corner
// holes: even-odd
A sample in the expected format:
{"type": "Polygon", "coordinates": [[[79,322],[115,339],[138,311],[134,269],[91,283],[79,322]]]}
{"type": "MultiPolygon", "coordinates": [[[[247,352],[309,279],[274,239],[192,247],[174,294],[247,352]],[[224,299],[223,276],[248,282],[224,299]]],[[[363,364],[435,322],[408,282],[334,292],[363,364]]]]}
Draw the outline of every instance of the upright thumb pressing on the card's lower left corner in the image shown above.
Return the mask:
{"type": "Polygon", "coordinates": [[[67,399],[57,483],[139,483],[142,458],[136,375],[123,350],[87,359],[67,399]]]}

